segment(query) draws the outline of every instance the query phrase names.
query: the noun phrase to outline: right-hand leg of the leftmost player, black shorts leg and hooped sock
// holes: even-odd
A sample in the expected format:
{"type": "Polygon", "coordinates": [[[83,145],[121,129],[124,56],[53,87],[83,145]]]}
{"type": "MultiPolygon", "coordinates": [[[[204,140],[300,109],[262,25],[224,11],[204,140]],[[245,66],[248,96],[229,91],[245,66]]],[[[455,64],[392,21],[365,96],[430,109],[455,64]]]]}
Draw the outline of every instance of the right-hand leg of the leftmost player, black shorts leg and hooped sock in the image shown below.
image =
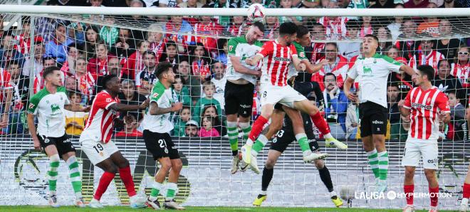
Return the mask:
{"type": "Polygon", "coordinates": [[[75,157],[75,147],[67,134],[57,140],[57,151],[62,159],[66,161],[69,170],[69,176],[72,183],[73,192],[75,193],[74,205],[78,207],[85,207],[82,196],[82,180],[80,178],[80,170],[78,170],[78,161],[75,157]]]}

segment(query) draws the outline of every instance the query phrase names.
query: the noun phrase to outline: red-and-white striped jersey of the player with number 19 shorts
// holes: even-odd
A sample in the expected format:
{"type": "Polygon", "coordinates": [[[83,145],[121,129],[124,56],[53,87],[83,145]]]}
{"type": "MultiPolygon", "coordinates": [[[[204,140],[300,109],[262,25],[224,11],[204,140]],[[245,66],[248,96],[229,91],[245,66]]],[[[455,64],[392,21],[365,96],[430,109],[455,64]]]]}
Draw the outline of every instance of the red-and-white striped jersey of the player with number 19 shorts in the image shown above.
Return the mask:
{"type": "MultiPolygon", "coordinates": [[[[113,136],[113,122],[119,117],[119,112],[111,110],[110,106],[119,103],[119,98],[103,90],[96,95],[90,109],[90,117],[85,124],[82,134],[92,135],[103,143],[108,143],[113,136]]],[[[98,142],[98,141],[97,141],[98,142]]]]}

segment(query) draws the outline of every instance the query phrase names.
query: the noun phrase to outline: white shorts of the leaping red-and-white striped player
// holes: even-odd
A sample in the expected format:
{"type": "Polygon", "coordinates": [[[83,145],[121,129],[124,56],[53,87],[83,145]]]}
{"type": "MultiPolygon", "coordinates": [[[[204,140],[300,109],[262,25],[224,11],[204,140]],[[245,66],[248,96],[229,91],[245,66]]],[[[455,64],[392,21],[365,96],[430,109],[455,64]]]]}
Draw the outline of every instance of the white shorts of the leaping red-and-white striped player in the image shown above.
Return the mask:
{"type": "Polygon", "coordinates": [[[300,92],[291,86],[275,86],[268,83],[261,84],[261,107],[266,104],[276,105],[280,103],[293,108],[294,102],[307,100],[300,92]]]}

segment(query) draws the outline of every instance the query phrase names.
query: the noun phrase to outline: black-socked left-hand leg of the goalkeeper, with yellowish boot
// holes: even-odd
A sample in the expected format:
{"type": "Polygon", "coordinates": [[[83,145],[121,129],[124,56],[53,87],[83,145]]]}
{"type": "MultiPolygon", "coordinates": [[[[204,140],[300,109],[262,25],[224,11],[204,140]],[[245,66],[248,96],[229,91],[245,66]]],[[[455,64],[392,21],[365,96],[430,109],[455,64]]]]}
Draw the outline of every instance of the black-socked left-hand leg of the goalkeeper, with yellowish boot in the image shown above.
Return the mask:
{"type": "MultiPolygon", "coordinates": [[[[287,145],[283,145],[283,147],[280,148],[286,149],[287,145]]],[[[268,186],[273,179],[274,165],[276,165],[278,158],[282,154],[282,152],[274,150],[272,147],[273,146],[271,146],[271,149],[269,149],[268,159],[266,159],[266,164],[264,164],[263,176],[261,176],[261,192],[258,194],[258,196],[256,196],[253,202],[254,206],[261,206],[261,203],[266,200],[266,192],[268,191],[268,186]]]]}

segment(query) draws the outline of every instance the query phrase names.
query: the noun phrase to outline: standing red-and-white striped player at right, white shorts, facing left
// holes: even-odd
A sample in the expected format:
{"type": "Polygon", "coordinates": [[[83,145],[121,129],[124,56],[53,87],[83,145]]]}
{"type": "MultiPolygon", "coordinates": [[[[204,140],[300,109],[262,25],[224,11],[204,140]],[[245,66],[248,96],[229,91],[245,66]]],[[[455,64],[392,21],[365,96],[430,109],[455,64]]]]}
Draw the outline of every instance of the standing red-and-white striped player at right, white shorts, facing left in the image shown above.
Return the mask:
{"type": "Polygon", "coordinates": [[[403,189],[407,194],[407,206],[403,211],[414,211],[414,170],[422,158],[431,198],[429,212],[437,212],[439,121],[445,124],[449,122],[450,107],[447,96],[431,83],[434,80],[434,68],[430,65],[421,65],[417,69],[418,73],[412,76],[412,80],[418,87],[410,90],[407,97],[398,102],[400,113],[411,120],[402,159],[402,166],[405,168],[403,189]]]}

